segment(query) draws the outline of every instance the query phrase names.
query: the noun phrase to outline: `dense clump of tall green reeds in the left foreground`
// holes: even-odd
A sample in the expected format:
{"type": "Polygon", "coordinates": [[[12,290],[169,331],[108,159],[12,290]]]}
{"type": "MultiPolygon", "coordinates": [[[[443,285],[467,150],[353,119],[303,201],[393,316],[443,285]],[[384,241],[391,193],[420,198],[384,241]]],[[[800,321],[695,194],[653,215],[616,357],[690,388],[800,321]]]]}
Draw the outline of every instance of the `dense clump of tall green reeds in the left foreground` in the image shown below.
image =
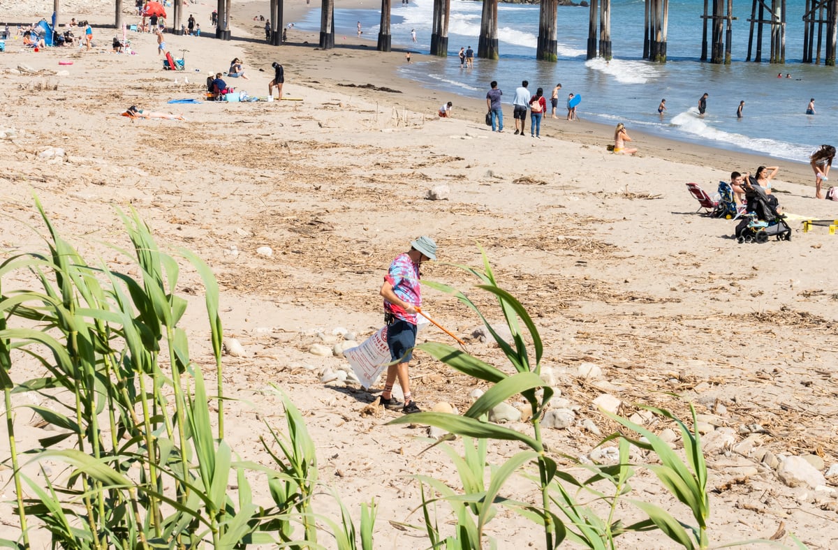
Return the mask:
{"type": "Polygon", "coordinates": [[[293,460],[274,455],[280,467],[272,469],[235,459],[224,439],[222,326],[209,267],[189,251],[178,253],[204,281],[217,395],[207,394],[202,367],[190,357],[179,326],[187,301],[175,293],[178,261],[158,249],[137,213],[120,213],[131,249],[115,247],[133,257],[135,280],[86,263],[36,204],[47,227],[47,253],[16,254],[0,264],[0,385],[10,450],[3,459],[13,468],[21,528],[18,541],[0,546],[28,548],[29,531],[38,525],[54,547],[85,550],[316,548],[325,525],[341,547],[357,547],[360,540],[361,548],[371,549],[374,503],[362,506],[359,530],[339,500],[340,522],[314,513],[314,445],[287,398],[289,434],[268,429],[293,460]],[[2,283],[10,275],[28,275],[39,289],[7,291],[2,283]],[[20,354],[44,374],[14,383],[13,358],[20,354]],[[15,404],[22,393],[40,403],[15,404]],[[14,420],[22,407],[56,430],[33,449],[16,445],[14,420]],[[69,466],[57,474],[42,468],[45,488],[24,473],[44,460],[69,466]],[[277,506],[253,503],[252,475],[265,476],[277,506]],[[287,482],[281,498],[273,491],[277,482],[287,482]],[[303,526],[302,541],[294,542],[294,525],[303,526]]]}

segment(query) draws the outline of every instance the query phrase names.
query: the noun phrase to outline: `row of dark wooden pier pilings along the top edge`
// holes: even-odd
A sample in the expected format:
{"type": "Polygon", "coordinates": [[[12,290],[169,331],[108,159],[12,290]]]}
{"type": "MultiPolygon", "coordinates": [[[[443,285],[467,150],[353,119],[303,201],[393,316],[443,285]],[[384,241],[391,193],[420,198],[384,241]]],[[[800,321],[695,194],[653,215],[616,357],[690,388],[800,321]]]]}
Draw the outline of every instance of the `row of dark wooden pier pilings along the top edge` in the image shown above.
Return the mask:
{"type": "MultiPolygon", "coordinates": [[[[114,21],[121,28],[126,0],[115,0],[114,21]]],[[[216,0],[218,24],[215,38],[230,40],[230,8],[232,0],[216,0]]],[[[320,49],[334,48],[334,0],[321,0],[320,49]]],[[[267,41],[282,44],[282,2],[270,0],[271,27],[267,41]]],[[[391,51],[391,2],[381,0],[381,19],[378,50],[391,51]]],[[[558,0],[541,0],[539,10],[537,59],[556,61],[560,21],[558,0]]],[[[587,59],[611,59],[611,0],[589,0],[587,59]]],[[[55,21],[61,24],[60,0],[53,0],[55,21]]],[[[172,7],[172,33],[182,33],[184,7],[175,2],[172,7]]],[[[448,23],[451,0],[433,0],[431,54],[447,56],[448,23]]],[[[733,0],[704,0],[702,19],[701,60],[714,64],[729,64],[732,58],[733,0]]],[[[785,63],[786,22],[789,13],[786,0],[752,0],[747,40],[747,61],[763,61],[763,39],[768,35],[768,61],[785,63]]],[[[793,13],[792,17],[797,17],[793,13]]],[[[838,54],[838,0],[805,0],[803,35],[803,63],[835,66],[838,54]]],[[[644,0],[643,58],[666,61],[666,33],[669,23],[669,0],[644,0]]],[[[477,56],[498,59],[498,0],[485,0],[480,21],[477,56]]]]}

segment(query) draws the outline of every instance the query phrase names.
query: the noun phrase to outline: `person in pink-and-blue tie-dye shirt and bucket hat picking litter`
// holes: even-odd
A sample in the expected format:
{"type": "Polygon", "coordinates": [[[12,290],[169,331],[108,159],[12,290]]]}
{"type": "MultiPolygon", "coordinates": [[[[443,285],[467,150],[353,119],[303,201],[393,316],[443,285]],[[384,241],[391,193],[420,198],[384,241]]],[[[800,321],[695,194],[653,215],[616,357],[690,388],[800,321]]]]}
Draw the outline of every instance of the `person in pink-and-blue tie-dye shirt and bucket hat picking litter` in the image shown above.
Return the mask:
{"type": "Polygon", "coordinates": [[[384,391],[379,398],[386,409],[401,408],[404,414],[421,412],[411,395],[408,371],[412,349],[416,345],[416,308],[422,306],[422,262],[437,260],[437,243],[430,237],[411,241],[411,249],[399,254],[387,270],[379,294],[384,298],[384,321],[387,323],[387,347],[396,364],[387,368],[384,391]],[[399,380],[405,396],[402,404],[393,397],[393,384],[399,380]]]}

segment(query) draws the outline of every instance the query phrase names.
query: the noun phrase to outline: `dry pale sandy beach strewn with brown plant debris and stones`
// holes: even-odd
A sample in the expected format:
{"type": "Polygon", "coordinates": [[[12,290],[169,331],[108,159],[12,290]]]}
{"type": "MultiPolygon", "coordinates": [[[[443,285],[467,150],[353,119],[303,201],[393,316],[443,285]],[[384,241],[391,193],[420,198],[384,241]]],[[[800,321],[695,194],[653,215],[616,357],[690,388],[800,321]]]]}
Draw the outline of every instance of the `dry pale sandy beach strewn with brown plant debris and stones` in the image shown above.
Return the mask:
{"type": "MultiPolygon", "coordinates": [[[[64,17],[112,19],[82,5],[63,8],[64,17]]],[[[213,7],[189,4],[184,21],[194,13],[204,34],[213,34],[213,7]]],[[[285,23],[308,8],[302,0],[287,4],[285,23]]],[[[390,411],[365,414],[383,384],[366,391],[323,383],[347,362],[310,350],[338,343],[340,328],[359,342],[380,328],[382,277],[422,234],[439,245],[439,261],[424,265],[423,277],[466,291],[491,321],[502,321],[489,296],[473,289],[478,281],[454,266],[480,266],[483,247],[499,284],[535,319],[545,343],[542,363],[575,415],[568,427],[544,434],[563,467],[574,470],[562,455],[589,460],[617,428],[593,404],[603,394],[655,433],[672,424],[641,416],[639,404],[686,419],[693,403],[706,415],[713,545],[776,535],[792,547],[794,533],[810,548],[838,547],[838,472],[831,468],[838,462],[838,235],[822,226],[804,233],[801,224],[838,218],[838,208],[815,200],[810,167],[632,129],[639,154],[614,155],[606,150],[613,129],[587,121],[546,120],[541,140],[521,139],[512,133],[510,105],[506,130],[494,134],[483,123],[484,100],[452,99],[399,78],[396,68],[406,62],[401,46],[381,54],[339,33],[337,47],[321,51],[314,33],[296,29],[287,44],[268,46],[264,23],[253,21],[267,11],[266,2],[235,3],[229,42],[167,34],[168,50],[186,60],[183,72],[163,70],[150,33],[128,34],[136,54],[112,53],[116,31],[105,28],[96,28],[91,52],[34,53],[23,51],[19,39],[7,40],[0,54],[8,89],[0,120],[0,249],[44,250],[34,193],[89,260],[137,275],[106,246],[127,246],[116,208],[136,208],[159,244],[193,250],[219,280],[225,336],[246,350],[244,357],[225,357],[228,392],[237,399],[227,405],[235,453],[266,463],[257,441],[266,433],[263,422],[285,429],[279,400],[266,391],[276,384],[303,412],[323,484],[356,518],[360,502],[375,497],[375,547],[409,548],[428,546],[423,532],[401,527],[422,522],[421,511],[413,511],[421,499],[411,475],[432,475],[458,490],[457,472],[439,449],[420,455],[427,427],[385,425],[400,415],[390,411]],[[206,76],[226,71],[235,57],[249,80],[227,81],[252,96],[267,94],[271,64],[282,63],[286,100],[167,103],[203,100],[206,76]],[[436,111],[447,100],[454,102],[453,118],[442,120],[436,111]],[[129,105],[186,120],[132,121],[120,116],[129,105]],[[712,194],[732,170],[775,163],[774,192],[793,229],[789,242],[737,244],[737,222],[696,213],[686,182],[712,194]],[[427,198],[434,188],[442,200],[427,198]],[[261,247],[272,254],[257,253],[261,247]],[[582,376],[587,363],[601,375],[582,376]],[[780,472],[794,456],[824,475],[823,484],[789,486],[780,472]]],[[[37,3],[18,3],[6,17],[37,20],[45,12],[37,3]]],[[[422,59],[413,54],[411,61],[422,59]]],[[[199,278],[189,270],[182,278],[190,350],[214,372],[199,314],[203,299],[193,290],[199,278]]],[[[4,293],[25,284],[2,282],[4,293]]],[[[430,288],[423,299],[468,352],[510,371],[498,347],[473,337],[481,326],[473,311],[430,288]]],[[[435,328],[420,340],[451,342],[435,328]]],[[[15,383],[39,372],[23,354],[15,359],[15,383]]],[[[422,409],[447,403],[463,412],[473,401],[469,393],[486,389],[422,353],[411,364],[411,383],[422,409]]],[[[18,415],[23,448],[44,437],[29,420],[18,415]]],[[[527,429],[522,422],[506,425],[527,429]]],[[[682,450],[680,440],[672,443],[682,450]]],[[[518,451],[510,442],[492,445],[489,462],[518,451]]],[[[7,455],[3,435],[0,457],[7,455]]],[[[10,474],[0,470],[7,484],[0,538],[15,537],[10,474]]],[[[633,488],[638,498],[691,520],[648,471],[633,488]]],[[[537,498],[522,479],[509,491],[518,500],[537,498]]],[[[320,511],[339,517],[325,493],[316,498],[320,511]]],[[[255,487],[253,498],[266,501],[266,487],[255,487]]],[[[530,522],[509,511],[487,532],[499,548],[544,543],[530,522]]],[[[48,544],[43,535],[37,542],[48,544]]],[[[652,534],[620,539],[620,547],[673,546],[652,534]]]]}

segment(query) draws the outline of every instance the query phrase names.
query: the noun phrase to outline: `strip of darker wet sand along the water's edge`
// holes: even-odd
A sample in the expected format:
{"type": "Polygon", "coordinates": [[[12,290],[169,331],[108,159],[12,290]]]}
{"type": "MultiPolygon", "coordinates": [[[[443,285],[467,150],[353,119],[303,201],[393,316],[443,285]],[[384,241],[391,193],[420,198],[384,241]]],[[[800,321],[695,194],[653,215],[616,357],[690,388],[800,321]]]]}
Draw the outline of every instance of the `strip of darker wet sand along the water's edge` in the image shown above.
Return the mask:
{"type": "MultiPolygon", "coordinates": [[[[233,9],[234,13],[242,13],[251,19],[253,15],[264,13],[265,10],[259,9],[262,4],[263,2],[259,0],[253,0],[236,3],[233,9]]],[[[368,9],[361,0],[341,3],[339,8],[368,9]]],[[[302,18],[308,11],[311,11],[310,6],[292,5],[283,14],[285,16],[283,18],[284,22],[287,24],[288,21],[302,18]]],[[[251,33],[250,38],[260,37],[251,33]]],[[[391,52],[378,52],[375,49],[374,41],[357,39],[354,34],[344,36],[336,31],[334,49],[322,51],[317,47],[318,39],[318,33],[295,29],[292,33],[289,33],[287,44],[282,44],[282,46],[251,43],[243,44],[242,47],[246,51],[252,50],[256,54],[254,59],[266,53],[287,59],[287,61],[282,61],[286,65],[286,74],[296,75],[297,78],[305,80],[306,85],[321,88],[323,88],[323,85],[328,85],[329,89],[339,89],[340,85],[354,84],[360,86],[369,84],[396,89],[401,91],[401,94],[387,94],[374,90],[357,90],[355,93],[373,101],[391,100],[394,105],[399,105],[400,108],[421,111],[427,113],[427,116],[431,118],[436,116],[439,105],[454,99],[453,118],[468,120],[480,126],[483,125],[483,118],[486,113],[484,100],[476,100],[463,95],[452,98],[451,95],[447,95],[441,90],[424,88],[415,81],[405,79],[399,75],[398,69],[401,64],[405,63],[404,55],[407,51],[411,52],[411,63],[413,64],[422,63],[423,59],[431,57],[428,54],[416,53],[415,50],[411,49],[410,44],[393,44],[391,52]],[[339,39],[340,41],[338,41],[339,39]],[[317,54],[312,54],[312,50],[317,54]],[[322,63],[328,65],[328,75],[322,74],[324,72],[323,67],[311,65],[315,55],[319,57],[322,63]],[[370,56],[375,56],[376,64],[370,64],[370,56]],[[330,59],[336,57],[340,58],[339,64],[332,63],[334,59],[330,59]],[[359,75],[365,76],[360,78],[359,75]]],[[[478,63],[479,60],[477,59],[475,62],[478,63]]],[[[513,93],[509,90],[514,90],[517,84],[499,87],[501,89],[505,87],[508,90],[504,94],[504,97],[509,98],[504,102],[504,127],[514,128],[510,105],[513,93]]],[[[486,91],[488,90],[489,83],[487,82],[486,91]]],[[[529,129],[529,126],[530,120],[527,116],[527,129],[529,129]]],[[[692,180],[689,179],[689,175],[685,175],[684,182],[699,183],[711,194],[715,193],[718,185],[717,180],[726,179],[730,176],[730,172],[753,173],[759,166],[773,164],[780,167],[775,181],[797,183],[815,188],[814,176],[809,165],[804,162],[775,159],[758,153],[734,152],[721,147],[696,144],[691,141],[679,141],[634,130],[631,127],[628,130],[634,140],[633,146],[639,149],[638,157],[658,157],[718,171],[719,176],[710,181],[692,180]],[[711,185],[711,188],[706,188],[708,185],[711,185]]],[[[564,120],[563,117],[556,120],[542,119],[541,135],[584,146],[602,147],[604,151],[607,145],[613,143],[613,126],[585,120],[569,122],[564,120]]],[[[514,136],[512,131],[509,131],[508,136],[499,137],[509,137],[511,139],[511,137],[518,136],[514,136]]],[[[812,194],[814,197],[814,192],[812,194]]]]}

